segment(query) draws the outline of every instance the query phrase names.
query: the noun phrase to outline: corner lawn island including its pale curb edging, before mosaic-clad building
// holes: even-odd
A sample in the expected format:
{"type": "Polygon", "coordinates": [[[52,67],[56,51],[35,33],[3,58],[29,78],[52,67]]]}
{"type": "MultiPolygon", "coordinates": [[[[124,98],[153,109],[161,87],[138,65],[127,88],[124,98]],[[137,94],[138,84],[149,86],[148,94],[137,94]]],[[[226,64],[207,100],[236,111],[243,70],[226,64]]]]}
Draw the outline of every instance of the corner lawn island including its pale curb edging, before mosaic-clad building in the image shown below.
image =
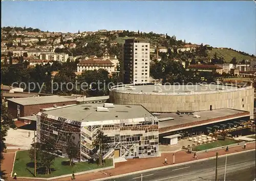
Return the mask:
{"type": "Polygon", "coordinates": [[[41,168],[40,165],[36,169],[36,177],[34,176],[34,162],[31,162],[29,157],[29,151],[16,151],[12,177],[16,172],[18,178],[38,178],[38,179],[56,179],[61,177],[71,176],[73,171],[75,175],[85,174],[90,172],[102,171],[105,169],[114,168],[113,160],[106,159],[105,163],[102,166],[99,166],[97,163],[88,163],[88,162],[77,162],[73,166],[69,165],[69,159],[66,157],[56,157],[53,166],[51,167],[50,174],[46,175],[45,168],[41,168]]]}

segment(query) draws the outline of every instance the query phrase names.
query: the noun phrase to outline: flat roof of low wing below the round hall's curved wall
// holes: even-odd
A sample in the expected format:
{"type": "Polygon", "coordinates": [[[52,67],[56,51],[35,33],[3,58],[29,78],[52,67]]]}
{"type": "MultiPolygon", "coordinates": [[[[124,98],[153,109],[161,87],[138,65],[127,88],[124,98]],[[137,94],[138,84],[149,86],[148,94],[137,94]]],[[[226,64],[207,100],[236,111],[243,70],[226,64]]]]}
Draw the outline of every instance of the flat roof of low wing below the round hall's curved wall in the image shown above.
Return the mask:
{"type": "Polygon", "coordinates": [[[198,115],[200,116],[200,118],[193,118],[193,115],[177,115],[174,112],[162,113],[161,115],[157,115],[156,117],[158,119],[162,119],[166,117],[174,118],[173,120],[159,122],[159,128],[164,128],[164,127],[176,126],[176,125],[181,125],[186,123],[193,123],[197,121],[214,119],[214,118],[219,118],[224,116],[236,115],[242,112],[247,112],[247,111],[223,108],[223,109],[204,110],[204,111],[194,112],[194,116],[198,115]]]}

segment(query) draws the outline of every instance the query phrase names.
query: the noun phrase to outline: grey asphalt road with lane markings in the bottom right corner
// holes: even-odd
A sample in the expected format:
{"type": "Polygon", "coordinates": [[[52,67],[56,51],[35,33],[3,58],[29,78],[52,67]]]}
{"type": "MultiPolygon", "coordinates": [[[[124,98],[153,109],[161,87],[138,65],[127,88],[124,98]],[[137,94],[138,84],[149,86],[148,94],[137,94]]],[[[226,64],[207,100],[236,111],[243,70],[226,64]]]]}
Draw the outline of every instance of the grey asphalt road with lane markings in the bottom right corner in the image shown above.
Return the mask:
{"type": "MultiPolygon", "coordinates": [[[[142,173],[143,181],[215,180],[216,159],[163,168],[142,173]]],[[[218,159],[218,180],[224,180],[225,157],[218,159]]],[[[253,180],[255,178],[255,150],[227,156],[226,180],[253,180]]],[[[108,179],[109,181],[141,181],[141,174],[108,179]]]]}

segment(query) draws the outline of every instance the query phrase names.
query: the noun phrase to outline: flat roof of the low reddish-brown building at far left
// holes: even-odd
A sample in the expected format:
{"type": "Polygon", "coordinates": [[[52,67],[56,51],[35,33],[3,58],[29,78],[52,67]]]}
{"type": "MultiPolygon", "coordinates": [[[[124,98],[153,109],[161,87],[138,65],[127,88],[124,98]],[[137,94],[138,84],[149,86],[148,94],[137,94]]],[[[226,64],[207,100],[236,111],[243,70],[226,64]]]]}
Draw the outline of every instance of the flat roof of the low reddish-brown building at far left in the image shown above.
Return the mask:
{"type": "Polygon", "coordinates": [[[8,101],[15,102],[20,105],[38,105],[49,104],[58,102],[76,101],[75,99],[65,98],[63,96],[40,96],[40,97],[27,97],[27,98],[11,98],[8,101]]]}

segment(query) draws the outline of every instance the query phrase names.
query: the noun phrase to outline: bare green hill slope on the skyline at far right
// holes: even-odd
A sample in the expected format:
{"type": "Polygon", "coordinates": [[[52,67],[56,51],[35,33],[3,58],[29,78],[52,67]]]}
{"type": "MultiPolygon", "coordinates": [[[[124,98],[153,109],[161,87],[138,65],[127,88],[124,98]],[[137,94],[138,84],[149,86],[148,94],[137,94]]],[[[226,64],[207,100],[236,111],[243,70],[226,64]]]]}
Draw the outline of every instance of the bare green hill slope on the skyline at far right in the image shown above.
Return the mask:
{"type": "Polygon", "coordinates": [[[243,55],[239,52],[236,52],[234,50],[229,50],[229,49],[212,48],[212,50],[207,51],[209,58],[214,57],[215,53],[217,53],[217,57],[219,57],[219,58],[223,57],[225,62],[230,62],[233,57],[236,57],[238,61],[242,61],[243,59],[245,59],[245,60],[256,59],[255,57],[252,58],[248,55],[243,55]]]}

